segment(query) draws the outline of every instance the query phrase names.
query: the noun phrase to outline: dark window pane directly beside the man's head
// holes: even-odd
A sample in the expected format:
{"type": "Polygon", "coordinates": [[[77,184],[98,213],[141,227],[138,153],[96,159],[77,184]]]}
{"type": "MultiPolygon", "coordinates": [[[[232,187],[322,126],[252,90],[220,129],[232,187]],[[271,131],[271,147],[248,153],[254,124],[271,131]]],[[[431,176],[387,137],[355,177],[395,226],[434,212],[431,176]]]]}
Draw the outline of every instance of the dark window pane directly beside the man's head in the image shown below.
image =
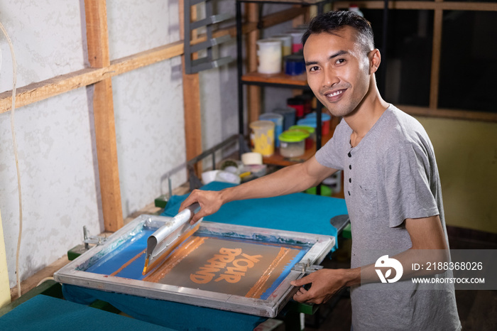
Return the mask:
{"type": "Polygon", "coordinates": [[[373,26],[376,48],[382,53],[383,70],[378,72],[376,79],[383,97],[393,104],[427,107],[430,103],[433,11],[389,11],[385,50],[383,10],[361,10],[373,26]]]}

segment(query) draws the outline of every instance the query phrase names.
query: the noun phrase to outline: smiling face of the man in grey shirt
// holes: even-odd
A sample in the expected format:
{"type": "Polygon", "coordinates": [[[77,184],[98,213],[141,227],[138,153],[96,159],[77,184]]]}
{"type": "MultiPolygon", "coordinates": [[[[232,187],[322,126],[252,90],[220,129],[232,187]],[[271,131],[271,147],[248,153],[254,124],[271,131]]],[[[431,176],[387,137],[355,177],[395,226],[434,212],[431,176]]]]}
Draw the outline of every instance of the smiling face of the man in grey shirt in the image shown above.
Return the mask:
{"type": "Polygon", "coordinates": [[[312,34],[304,46],[307,82],[317,99],[334,116],[354,112],[368,92],[369,60],[349,26],[312,34]]]}

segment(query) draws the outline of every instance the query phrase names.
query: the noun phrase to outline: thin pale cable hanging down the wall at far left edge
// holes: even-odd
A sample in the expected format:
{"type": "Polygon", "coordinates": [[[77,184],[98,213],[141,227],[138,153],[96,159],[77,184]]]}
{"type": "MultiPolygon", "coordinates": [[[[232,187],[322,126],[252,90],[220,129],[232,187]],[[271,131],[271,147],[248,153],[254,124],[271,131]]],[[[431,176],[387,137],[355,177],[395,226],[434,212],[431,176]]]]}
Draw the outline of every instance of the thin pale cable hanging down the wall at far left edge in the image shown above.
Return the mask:
{"type": "Polygon", "coordinates": [[[17,170],[17,189],[19,193],[19,237],[17,240],[17,251],[16,251],[16,281],[17,281],[17,293],[21,296],[21,277],[19,276],[19,251],[21,249],[21,236],[23,232],[23,204],[21,199],[21,173],[19,172],[19,158],[17,153],[17,141],[16,141],[16,131],[14,130],[14,110],[16,109],[16,82],[17,82],[17,64],[16,55],[13,53],[13,45],[11,38],[7,34],[4,25],[0,22],[0,29],[4,33],[9,47],[11,49],[12,56],[12,68],[13,68],[13,85],[12,85],[12,109],[11,109],[11,130],[12,130],[12,143],[13,143],[13,155],[16,158],[16,170],[17,170]]]}

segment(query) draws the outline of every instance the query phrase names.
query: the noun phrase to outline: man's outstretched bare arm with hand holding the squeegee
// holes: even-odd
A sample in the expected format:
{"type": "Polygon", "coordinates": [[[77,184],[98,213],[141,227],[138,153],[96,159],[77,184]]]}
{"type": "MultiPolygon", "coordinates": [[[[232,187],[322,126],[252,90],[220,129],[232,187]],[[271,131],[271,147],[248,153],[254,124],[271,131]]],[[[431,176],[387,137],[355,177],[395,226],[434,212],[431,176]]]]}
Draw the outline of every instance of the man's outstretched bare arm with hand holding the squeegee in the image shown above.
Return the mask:
{"type": "Polygon", "coordinates": [[[212,215],[226,202],[234,200],[253,199],[257,197],[275,197],[295,192],[302,192],[335,173],[337,169],[327,168],[317,162],[315,156],[303,163],[290,165],[281,170],[251,180],[242,185],[226,188],[220,191],[193,190],[182,202],[180,211],[185,207],[199,202],[200,211],[195,214],[190,223],[197,222],[201,217],[212,215]]]}

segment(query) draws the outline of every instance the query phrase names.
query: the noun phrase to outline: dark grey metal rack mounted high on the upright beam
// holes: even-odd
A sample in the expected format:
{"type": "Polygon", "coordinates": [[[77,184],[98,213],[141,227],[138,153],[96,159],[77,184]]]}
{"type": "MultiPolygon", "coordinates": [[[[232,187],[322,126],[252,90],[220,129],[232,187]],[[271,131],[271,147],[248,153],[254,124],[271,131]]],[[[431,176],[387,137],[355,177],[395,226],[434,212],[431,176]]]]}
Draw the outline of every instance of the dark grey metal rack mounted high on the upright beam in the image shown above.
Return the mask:
{"type": "Polygon", "coordinates": [[[195,74],[197,72],[212,69],[215,67],[220,67],[221,65],[226,65],[233,61],[231,56],[225,58],[214,59],[212,55],[212,47],[219,45],[221,43],[226,43],[226,41],[231,40],[231,36],[221,36],[218,38],[212,38],[212,24],[220,23],[231,18],[228,13],[219,13],[217,15],[212,14],[212,1],[211,0],[185,0],[185,72],[187,74],[195,74]],[[202,18],[198,21],[190,21],[191,7],[200,2],[205,3],[205,14],[206,18],[202,18]],[[207,41],[202,43],[197,43],[192,45],[192,30],[197,28],[205,27],[207,41]],[[192,54],[197,53],[200,50],[206,50],[207,55],[200,59],[193,59],[192,54]]]}

